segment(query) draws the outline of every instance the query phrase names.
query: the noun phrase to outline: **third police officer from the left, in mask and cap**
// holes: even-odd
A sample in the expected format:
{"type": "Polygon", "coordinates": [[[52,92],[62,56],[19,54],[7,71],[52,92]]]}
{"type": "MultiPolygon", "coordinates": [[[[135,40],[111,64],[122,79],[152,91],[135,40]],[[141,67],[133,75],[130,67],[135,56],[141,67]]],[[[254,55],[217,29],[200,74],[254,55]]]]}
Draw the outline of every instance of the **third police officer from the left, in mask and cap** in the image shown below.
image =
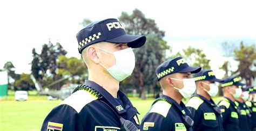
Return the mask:
{"type": "Polygon", "coordinates": [[[193,130],[223,130],[223,121],[220,108],[214,103],[212,97],[218,94],[217,79],[212,70],[201,70],[193,75],[197,93],[187,102],[194,120],[193,130]]]}

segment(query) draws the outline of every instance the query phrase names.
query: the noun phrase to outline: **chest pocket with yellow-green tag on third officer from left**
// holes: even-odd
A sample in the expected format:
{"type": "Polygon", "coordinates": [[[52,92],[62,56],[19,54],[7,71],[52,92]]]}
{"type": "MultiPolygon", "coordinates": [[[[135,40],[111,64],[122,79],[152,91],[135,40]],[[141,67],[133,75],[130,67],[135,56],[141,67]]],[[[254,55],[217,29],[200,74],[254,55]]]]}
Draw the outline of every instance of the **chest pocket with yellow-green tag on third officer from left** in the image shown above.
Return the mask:
{"type": "Polygon", "coordinates": [[[217,127],[218,121],[215,113],[204,113],[203,125],[206,127],[217,127]]]}

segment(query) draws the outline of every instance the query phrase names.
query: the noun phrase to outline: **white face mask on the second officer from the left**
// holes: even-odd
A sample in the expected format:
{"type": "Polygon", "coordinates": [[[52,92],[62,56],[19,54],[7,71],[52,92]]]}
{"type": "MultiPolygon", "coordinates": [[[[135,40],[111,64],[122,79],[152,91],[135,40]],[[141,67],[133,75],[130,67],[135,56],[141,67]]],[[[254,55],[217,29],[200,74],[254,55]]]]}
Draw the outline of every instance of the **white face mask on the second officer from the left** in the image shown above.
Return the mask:
{"type": "MultiPolygon", "coordinates": [[[[171,78],[173,80],[180,80],[180,79],[174,79],[174,78],[171,78]]],[[[183,85],[184,87],[179,89],[177,87],[174,87],[175,89],[178,89],[179,93],[185,98],[190,98],[190,96],[196,91],[196,82],[194,82],[194,79],[193,78],[190,78],[190,79],[183,79],[183,80],[180,80],[180,81],[183,81],[183,85]]]]}

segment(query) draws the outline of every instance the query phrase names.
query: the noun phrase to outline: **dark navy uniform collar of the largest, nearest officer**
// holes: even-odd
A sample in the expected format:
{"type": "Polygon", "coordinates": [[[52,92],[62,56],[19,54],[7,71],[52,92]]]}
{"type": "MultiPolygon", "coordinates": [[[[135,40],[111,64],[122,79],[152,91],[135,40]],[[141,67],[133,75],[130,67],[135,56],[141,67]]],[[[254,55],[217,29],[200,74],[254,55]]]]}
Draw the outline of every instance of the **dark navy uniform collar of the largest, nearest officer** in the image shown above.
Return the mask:
{"type": "MultiPolygon", "coordinates": [[[[98,85],[96,82],[85,80],[86,86],[89,86],[93,89],[95,89],[97,92],[99,92],[106,100],[111,104],[111,106],[118,112],[119,114],[125,113],[126,109],[122,107],[116,99],[113,98],[113,96],[107,92],[102,86],[98,85]]],[[[127,98],[127,96],[122,92],[118,91],[117,94],[119,95],[120,99],[124,102],[125,105],[132,106],[130,100],[127,98]]]]}

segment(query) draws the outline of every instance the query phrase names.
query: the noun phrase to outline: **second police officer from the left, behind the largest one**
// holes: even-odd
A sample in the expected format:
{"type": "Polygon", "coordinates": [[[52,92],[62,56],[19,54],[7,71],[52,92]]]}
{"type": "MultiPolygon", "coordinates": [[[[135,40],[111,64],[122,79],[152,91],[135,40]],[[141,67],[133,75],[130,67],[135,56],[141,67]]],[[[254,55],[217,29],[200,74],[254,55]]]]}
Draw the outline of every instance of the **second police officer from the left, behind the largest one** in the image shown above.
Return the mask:
{"type": "Polygon", "coordinates": [[[190,98],[196,90],[191,73],[201,67],[191,67],[186,60],[177,57],[166,60],[156,69],[163,95],[156,99],[144,116],[140,130],[190,130],[193,126],[191,114],[181,99],[190,98]]]}

